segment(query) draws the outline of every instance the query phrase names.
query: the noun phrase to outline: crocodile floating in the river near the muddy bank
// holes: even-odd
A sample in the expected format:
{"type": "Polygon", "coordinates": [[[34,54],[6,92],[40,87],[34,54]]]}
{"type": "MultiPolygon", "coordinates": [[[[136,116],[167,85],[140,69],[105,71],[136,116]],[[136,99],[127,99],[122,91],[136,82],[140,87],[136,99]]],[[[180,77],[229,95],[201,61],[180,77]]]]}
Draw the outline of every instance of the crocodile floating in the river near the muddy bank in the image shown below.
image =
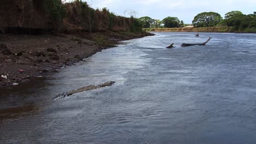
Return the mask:
{"type": "Polygon", "coordinates": [[[91,91],[92,89],[98,89],[98,88],[102,88],[102,87],[112,86],[114,83],[115,83],[114,81],[107,81],[107,82],[101,83],[100,85],[97,85],[97,86],[90,85],[90,86],[85,86],[85,87],[78,88],[78,89],[73,89],[72,91],[63,92],[61,94],[56,95],[53,98],[53,100],[62,99],[62,98],[68,97],[68,96],[70,96],[72,94],[75,94],[75,93],[91,91]]]}

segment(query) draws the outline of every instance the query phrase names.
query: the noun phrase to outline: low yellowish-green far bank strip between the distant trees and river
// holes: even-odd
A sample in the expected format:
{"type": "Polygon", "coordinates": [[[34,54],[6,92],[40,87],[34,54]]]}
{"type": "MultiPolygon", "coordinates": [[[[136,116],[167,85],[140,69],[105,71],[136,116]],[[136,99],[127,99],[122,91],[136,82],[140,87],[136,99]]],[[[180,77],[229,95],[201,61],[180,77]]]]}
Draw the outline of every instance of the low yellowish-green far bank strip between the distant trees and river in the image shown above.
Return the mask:
{"type": "Polygon", "coordinates": [[[214,33],[256,33],[256,29],[242,32],[234,31],[232,27],[191,27],[191,28],[143,28],[147,32],[214,32],[214,33]]]}

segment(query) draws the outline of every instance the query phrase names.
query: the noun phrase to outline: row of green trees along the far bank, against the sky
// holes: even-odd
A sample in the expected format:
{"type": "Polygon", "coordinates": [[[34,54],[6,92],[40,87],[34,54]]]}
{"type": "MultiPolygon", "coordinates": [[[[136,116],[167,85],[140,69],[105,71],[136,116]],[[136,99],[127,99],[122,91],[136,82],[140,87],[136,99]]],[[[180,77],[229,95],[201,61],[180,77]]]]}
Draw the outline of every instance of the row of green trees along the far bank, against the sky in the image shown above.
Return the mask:
{"type": "MultiPolygon", "coordinates": [[[[184,27],[183,21],[177,17],[168,16],[163,20],[152,19],[148,16],[140,17],[143,28],[176,28],[184,27]]],[[[203,12],[197,14],[192,21],[194,27],[232,27],[233,31],[256,31],[256,12],[245,15],[241,11],[230,11],[225,14],[223,19],[220,14],[215,12],[203,12]]]]}

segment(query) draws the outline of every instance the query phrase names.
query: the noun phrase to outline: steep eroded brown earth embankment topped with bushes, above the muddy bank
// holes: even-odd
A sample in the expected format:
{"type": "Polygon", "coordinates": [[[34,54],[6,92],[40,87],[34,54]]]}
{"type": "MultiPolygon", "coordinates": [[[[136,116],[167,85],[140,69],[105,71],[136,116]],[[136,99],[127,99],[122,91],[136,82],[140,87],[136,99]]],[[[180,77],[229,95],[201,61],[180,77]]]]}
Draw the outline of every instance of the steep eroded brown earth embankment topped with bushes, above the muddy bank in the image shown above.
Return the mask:
{"type": "Polygon", "coordinates": [[[120,32],[141,29],[136,19],[117,16],[108,9],[92,9],[86,2],[62,4],[60,0],[2,0],[0,34],[42,34],[49,31],[120,32]],[[62,14],[63,13],[63,14],[62,14]]]}

